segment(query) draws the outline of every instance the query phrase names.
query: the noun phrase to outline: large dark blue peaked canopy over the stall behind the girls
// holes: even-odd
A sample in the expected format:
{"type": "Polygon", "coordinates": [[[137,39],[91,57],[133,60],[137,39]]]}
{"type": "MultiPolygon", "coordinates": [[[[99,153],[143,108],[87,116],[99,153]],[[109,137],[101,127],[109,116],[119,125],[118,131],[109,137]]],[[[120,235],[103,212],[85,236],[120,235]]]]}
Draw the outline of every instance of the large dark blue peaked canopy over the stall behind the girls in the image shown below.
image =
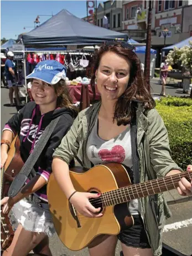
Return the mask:
{"type": "Polygon", "coordinates": [[[127,34],[97,27],[63,9],[29,33],[23,34],[24,45],[99,44],[127,34]]]}

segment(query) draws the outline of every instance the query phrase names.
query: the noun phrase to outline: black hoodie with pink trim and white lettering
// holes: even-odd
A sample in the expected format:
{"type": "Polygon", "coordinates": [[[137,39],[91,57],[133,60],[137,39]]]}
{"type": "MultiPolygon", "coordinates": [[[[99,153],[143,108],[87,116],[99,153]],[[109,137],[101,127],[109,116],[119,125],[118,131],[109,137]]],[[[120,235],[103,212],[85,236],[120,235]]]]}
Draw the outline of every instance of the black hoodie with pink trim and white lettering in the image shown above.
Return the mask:
{"type": "MultiPolygon", "coordinates": [[[[53,152],[59,146],[61,139],[70,129],[74,121],[75,112],[62,107],[41,115],[39,105],[30,102],[19,110],[4,126],[4,130],[10,130],[14,136],[19,134],[20,140],[20,155],[23,161],[27,161],[30,153],[33,152],[35,145],[40,139],[41,134],[49,125],[50,121],[60,116],[59,122],[56,125],[48,143],[44,147],[38,161],[34,165],[34,170],[30,173],[28,181],[35,175],[42,176],[46,182],[49,180],[51,173],[51,163],[53,161],[53,152]]],[[[34,193],[43,201],[48,201],[46,196],[46,185],[34,193]]]]}

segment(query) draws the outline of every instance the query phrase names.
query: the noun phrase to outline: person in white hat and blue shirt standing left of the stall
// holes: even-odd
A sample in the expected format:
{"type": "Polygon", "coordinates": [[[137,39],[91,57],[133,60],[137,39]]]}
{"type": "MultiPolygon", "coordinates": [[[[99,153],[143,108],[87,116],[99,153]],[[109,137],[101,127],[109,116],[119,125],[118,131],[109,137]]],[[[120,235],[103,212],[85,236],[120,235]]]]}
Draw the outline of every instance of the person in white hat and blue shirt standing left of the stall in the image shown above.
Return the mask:
{"type": "Polygon", "coordinates": [[[9,88],[9,99],[10,99],[11,106],[14,106],[13,92],[15,94],[17,105],[20,106],[22,104],[20,103],[20,99],[19,99],[18,84],[15,81],[15,73],[14,73],[15,64],[13,62],[13,57],[14,57],[14,54],[12,52],[7,53],[7,60],[5,63],[6,78],[7,78],[8,88],[9,88]]]}

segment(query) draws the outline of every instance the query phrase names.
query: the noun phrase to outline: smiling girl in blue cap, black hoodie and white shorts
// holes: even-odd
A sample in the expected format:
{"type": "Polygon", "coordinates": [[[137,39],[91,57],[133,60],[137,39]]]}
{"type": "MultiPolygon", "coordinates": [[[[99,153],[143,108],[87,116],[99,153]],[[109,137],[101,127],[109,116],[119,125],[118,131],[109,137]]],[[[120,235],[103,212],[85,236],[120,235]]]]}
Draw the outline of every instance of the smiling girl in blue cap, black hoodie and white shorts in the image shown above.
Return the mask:
{"type": "MultiPolygon", "coordinates": [[[[20,155],[25,162],[37,144],[39,137],[50,124],[60,116],[51,137],[34,165],[35,173],[30,173],[28,183],[13,198],[4,197],[1,201],[3,212],[12,209],[20,223],[11,246],[3,256],[25,256],[55,229],[49,212],[46,196],[46,183],[51,173],[54,149],[70,129],[76,110],[72,105],[65,85],[65,67],[55,60],[40,62],[32,74],[32,96],[28,103],[5,125],[1,141],[1,167],[7,160],[7,150],[15,134],[19,134],[20,155]],[[26,199],[30,195],[30,199],[26,199]]],[[[51,256],[50,249],[46,254],[51,256]]]]}

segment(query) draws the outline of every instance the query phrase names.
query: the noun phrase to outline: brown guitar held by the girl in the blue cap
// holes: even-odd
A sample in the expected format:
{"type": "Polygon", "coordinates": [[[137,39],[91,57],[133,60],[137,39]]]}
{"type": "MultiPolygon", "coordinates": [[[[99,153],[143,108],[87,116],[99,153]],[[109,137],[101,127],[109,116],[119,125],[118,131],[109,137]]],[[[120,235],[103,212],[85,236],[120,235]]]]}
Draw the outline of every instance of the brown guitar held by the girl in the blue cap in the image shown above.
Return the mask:
{"type": "MultiPolygon", "coordinates": [[[[7,196],[9,187],[11,186],[14,177],[19,173],[24,165],[20,157],[20,141],[18,135],[14,137],[10,149],[8,151],[8,158],[6,164],[1,169],[1,199],[7,196]]],[[[13,222],[10,222],[10,215],[2,213],[1,207],[1,250],[6,250],[12,243],[14,231],[12,228],[13,222]]]]}

